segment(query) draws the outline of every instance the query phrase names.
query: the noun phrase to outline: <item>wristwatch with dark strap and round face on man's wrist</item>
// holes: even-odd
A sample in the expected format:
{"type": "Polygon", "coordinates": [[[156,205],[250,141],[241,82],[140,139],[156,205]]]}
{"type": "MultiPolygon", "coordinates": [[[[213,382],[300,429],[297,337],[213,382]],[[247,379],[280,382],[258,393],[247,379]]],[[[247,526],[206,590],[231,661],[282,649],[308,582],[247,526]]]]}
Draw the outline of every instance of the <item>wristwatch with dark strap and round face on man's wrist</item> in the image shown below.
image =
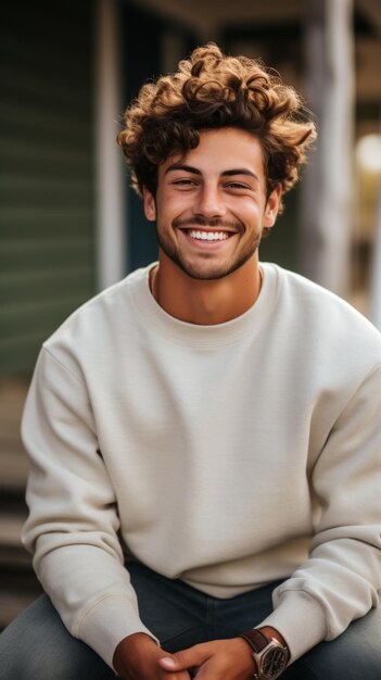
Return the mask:
{"type": "Polygon", "coordinates": [[[256,680],[276,680],[285,670],[290,653],[275,638],[267,638],[261,630],[253,628],[240,634],[253,650],[256,665],[256,680]]]}

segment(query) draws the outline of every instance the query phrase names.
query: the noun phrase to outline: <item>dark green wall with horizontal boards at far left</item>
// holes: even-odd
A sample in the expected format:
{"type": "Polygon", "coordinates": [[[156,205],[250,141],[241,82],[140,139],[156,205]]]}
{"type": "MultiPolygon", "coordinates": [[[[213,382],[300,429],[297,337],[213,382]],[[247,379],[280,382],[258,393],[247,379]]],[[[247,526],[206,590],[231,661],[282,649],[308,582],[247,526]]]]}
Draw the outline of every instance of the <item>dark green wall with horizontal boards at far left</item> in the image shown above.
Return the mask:
{"type": "Polygon", "coordinates": [[[0,377],[94,291],[93,7],[0,9],[0,377]]]}

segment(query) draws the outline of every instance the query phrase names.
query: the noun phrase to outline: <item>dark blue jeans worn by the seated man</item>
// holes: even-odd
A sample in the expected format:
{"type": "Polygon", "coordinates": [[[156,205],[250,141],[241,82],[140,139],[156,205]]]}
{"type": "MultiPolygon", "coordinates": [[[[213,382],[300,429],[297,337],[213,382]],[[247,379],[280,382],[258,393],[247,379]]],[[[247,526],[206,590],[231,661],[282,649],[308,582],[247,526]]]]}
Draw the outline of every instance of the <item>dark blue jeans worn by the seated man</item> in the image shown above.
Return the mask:
{"type": "MultiPolygon", "coordinates": [[[[271,612],[275,583],[217,600],[147,567],[129,565],[140,616],[164,650],[231,638],[271,612]]],[[[305,622],[306,627],[308,621],[305,622]]],[[[114,672],[66,630],[42,595],[0,635],[1,680],[112,680],[114,672]]],[[[381,680],[381,607],[354,621],[336,640],[296,660],[284,680],[381,680]]]]}

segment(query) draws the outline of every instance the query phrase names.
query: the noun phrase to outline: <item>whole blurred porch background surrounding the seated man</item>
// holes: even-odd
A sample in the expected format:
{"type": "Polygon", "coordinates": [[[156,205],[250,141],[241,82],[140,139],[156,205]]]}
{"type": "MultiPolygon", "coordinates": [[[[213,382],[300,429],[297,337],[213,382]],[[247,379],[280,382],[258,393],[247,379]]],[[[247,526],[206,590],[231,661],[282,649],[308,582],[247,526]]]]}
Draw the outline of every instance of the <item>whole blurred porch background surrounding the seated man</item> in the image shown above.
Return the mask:
{"type": "Polygon", "coordinates": [[[39,592],[20,543],[20,418],[41,342],[156,259],[115,144],[148,78],[198,45],[262,58],[319,140],[261,248],[381,327],[379,0],[17,0],[0,8],[0,629],[39,592]]]}

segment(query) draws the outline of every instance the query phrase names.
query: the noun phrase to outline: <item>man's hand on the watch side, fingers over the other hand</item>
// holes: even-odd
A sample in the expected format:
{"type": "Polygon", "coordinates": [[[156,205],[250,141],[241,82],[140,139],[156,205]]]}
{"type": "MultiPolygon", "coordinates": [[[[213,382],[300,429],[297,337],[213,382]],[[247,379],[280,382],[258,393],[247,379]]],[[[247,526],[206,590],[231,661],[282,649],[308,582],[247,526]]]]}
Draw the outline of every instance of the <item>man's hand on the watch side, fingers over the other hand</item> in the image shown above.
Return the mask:
{"type": "Polygon", "coordinates": [[[204,642],[170,656],[162,654],[158,665],[172,673],[168,680],[190,668],[195,671],[194,680],[247,680],[255,670],[251,647],[242,638],[204,642]]]}

